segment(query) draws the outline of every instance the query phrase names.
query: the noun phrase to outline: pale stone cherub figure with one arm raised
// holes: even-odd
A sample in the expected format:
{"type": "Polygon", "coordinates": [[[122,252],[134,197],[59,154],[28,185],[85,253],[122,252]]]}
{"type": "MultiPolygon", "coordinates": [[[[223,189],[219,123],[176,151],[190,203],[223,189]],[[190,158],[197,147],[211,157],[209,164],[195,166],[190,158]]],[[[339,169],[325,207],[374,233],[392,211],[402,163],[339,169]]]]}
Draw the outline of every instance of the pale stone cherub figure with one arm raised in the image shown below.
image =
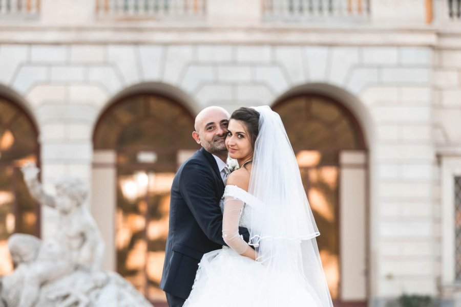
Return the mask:
{"type": "MultiPolygon", "coordinates": [[[[47,194],[38,181],[38,168],[28,163],[22,168],[24,180],[33,198],[41,205],[55,208],[59,213],[58,231],[54,240],[40,248],[36,264],[26,273],[19,307],[33,306],[40,286],[75,269],[87,270],[93,281],[102,286],[107,276],[102,271],[104,243],[85,201],[88,190],[78,178],[62,177],[55,185],[56,196],[47,194]],[[51,246],[54,244],[54,249],[51,246]],[[48,247],[48,248],[47,248],[48,247]],[[69,261],[56,258],[57,249],[66,249],[69,261]]],[[[60,252],[64,254],[65,252],[60,252]]]]}

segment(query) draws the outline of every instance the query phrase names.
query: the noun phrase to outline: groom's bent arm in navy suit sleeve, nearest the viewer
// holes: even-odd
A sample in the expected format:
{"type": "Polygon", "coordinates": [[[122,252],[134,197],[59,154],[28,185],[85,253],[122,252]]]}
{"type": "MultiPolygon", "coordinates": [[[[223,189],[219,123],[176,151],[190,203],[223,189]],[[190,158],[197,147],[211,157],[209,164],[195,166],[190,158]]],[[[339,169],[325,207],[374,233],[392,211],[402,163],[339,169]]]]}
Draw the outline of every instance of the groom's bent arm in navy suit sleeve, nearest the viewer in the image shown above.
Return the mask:
{"type": "Polygon", "coordinates": [[[179,179],[181,195],[208,239],[226,245],[222,238],[222,213],[220,198],[216,198],[213,177],[198,161],[184,165],[179,179]]]}

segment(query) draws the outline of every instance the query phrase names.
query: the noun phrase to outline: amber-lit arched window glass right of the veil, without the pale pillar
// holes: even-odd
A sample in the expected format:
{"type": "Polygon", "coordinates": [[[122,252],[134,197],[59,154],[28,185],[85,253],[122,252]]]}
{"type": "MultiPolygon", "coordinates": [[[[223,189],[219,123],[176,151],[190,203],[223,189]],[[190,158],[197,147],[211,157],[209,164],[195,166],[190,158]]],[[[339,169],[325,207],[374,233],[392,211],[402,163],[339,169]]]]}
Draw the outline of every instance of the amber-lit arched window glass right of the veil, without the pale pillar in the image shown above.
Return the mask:
{"type": "Polygon", "coordinates": [[[295,151],[309,204],[321,233],[317,242],[330,293],[333,300],[340,302],[341,183],[347,173],[342,157],[344,152],[363,152],[364,155],[366,146],[362,131],[348,109],[320,95],[291,97],[276,103],[273,109],[280,114],[295,151]]]}

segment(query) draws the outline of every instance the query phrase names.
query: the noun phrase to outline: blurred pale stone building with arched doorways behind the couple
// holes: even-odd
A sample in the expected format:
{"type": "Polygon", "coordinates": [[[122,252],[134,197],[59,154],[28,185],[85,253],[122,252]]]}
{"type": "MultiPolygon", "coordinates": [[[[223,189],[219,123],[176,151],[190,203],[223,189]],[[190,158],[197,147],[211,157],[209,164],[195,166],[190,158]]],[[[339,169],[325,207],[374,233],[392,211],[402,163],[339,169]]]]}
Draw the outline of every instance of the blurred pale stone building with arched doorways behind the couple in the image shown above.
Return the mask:
{"type": "Polygon", "coordinates": [[[461,304],[461,0],[0,0],[0,275],[12,233],[56,231],[35,161],[88,181],[106,269],[161,305],[196,114],[264,104],[334,305],[461,304]]]}

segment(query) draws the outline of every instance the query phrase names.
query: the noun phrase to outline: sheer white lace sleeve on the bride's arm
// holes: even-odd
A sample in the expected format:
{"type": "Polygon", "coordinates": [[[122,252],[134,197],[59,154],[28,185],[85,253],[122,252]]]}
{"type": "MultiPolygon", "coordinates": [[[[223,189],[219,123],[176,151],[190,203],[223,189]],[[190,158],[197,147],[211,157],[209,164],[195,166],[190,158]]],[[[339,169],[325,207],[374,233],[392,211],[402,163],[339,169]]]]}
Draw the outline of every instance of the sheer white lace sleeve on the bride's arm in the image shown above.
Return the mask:
{"type": "Polygon", "coordinates": [[[255,251],[248,246],[239,234],[239,221],[244,202],[232,197],[224,198],[224,212],[222,218],[222,237],[224,242],[237,253],[255,258],[255,251]]]}

